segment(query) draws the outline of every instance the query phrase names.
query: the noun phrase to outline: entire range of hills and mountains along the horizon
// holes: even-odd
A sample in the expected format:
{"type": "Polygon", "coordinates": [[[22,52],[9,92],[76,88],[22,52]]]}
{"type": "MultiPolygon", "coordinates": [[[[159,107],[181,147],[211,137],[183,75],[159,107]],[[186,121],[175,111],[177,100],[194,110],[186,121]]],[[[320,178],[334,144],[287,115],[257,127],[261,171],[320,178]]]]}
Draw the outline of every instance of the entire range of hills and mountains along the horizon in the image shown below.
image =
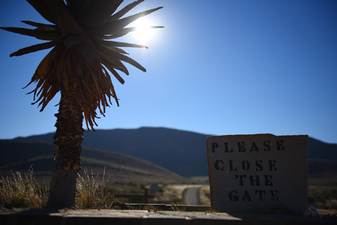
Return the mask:
{"type": "MultiPolygon", "coordinates": [[[[30,162],[34,162],[34,173],[36,171],[39,172],[40,167],[48,167],[51,171],[53,164],[53,135],[53,133],[48,133],[5,140],[5,142],[14,141],[16,143],[16,147],[15,145],[11,146],[13,149],[27,148],[22,141],[25,144],[34,145],[34,148],[22,150],[15,156],[10,154],[12,152],[11,149],[5,152],[2,151],[0,172],[1,169],[4,169],[4,164],[7,165],[7,171],[10,171],[8,170],[10,167],[8,163],[10,164],[11,162],[17,163],[16,165],[12,165],[13,171],[16,171],[18,168],[27,171],[31,165],[29,164],[30,162]],[[20,141],[22,145],[18,146],[20,141]],[[44,148],[46,148],[44,145],[46,143],[48,143],[48,155],[44,152],[44,148]],[[44,154],[41,154],[41,152],[44,154]],[[5,157],[6,154],[7,157],[5,157]],[[50,161],[47,162],[46,158],[50,161]]],[[[100,173],[103,172],[103,165],[107,165],[107,169],[112,177],[114,177],[114,181],[165,182],[167,181],[165,176],[168,176],[171,177],[171,181],[186,182],[186,177],[208,176],[205,143],[207,136],[206,134],[165,127],[97,130],[84,134],[83,151],[81,154],[82,164],[84,167],[95,169],[95,172],[98,169],[100,173]],[[126,159],[124,158],[126,161],[120,157],[123,154],[126,156],[126,159]],[[114,162],[116,158],[117,162],[114,162]],[[164,174],[153,174],[151,170],[158,167],[145,165],[138,160],[145,160],[152,165],[161,167],[159,170],[164,172],[164,174]],[[126,162],[128,164],[133,163],[133,166],[127,167],[126,162]],[[136,169],[133,167],[136,167],[136,169]]],[[[4,140],[0,141],[0,150],[4,148],[4,146],[1,146],[1,143],[4,143],[4,140]]],[[[310,185],[337,186],[337,144],[324,143],[309,138],[308,155],[310,185]]],[[[45,176],[47,176],[46,170],[48,169],[44,170],[45,176]]],[[[48,176],[50,176],[50,172],[48,172],[48,176]]]]}

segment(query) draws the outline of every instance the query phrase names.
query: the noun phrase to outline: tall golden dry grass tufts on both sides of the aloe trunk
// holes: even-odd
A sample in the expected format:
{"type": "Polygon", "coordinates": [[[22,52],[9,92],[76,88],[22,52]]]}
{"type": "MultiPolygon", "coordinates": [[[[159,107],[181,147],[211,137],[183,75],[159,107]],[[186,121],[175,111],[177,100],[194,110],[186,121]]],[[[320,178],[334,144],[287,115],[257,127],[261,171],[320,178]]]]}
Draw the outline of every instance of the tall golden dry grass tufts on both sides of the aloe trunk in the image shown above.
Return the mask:
{"type": "MultiPolygon", "coordinates": [[[[107,179],[108,181],[108,179],[107,179]]],[[[99,180],[84,169],[84,176],[77,178],[75,208],[77,209],[116,209],[121,203],[107,192],[105,174],[99,180]]],[[[0,206],[5,208],[32,208],[46,207],[49,194],[49,184],[41,185],[33,176],[33,171],[27,174],[12,172],[12,176],[1,177],[0,206]]]]}

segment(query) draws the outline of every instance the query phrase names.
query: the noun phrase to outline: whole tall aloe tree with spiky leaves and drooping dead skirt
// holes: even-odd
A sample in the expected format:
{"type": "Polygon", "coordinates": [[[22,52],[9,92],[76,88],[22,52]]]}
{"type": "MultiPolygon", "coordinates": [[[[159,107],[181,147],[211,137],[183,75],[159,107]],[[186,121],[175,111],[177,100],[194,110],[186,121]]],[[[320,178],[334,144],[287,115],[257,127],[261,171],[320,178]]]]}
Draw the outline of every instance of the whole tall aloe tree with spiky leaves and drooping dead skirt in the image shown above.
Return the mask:
{"type": "Polygon", "coordinates": [[[128,75],[122,61],[146,71],[120,49],[146,46],[112,39],[133,32],[136,27],[126,27],[128,24],[162,7],[124,17],[144,0],[128,4],[119,11],[117,8],[123,0],[27,1],[51,24],[22,21],[35,28],[1,29],[47,41],[15,51],[10,56],[53,48],[34,72],[29,84],[35,83],[36,87],[29,93],[34,94],[34,103],[39,103],[42,111],[60,91],[59,110],[55,114],[55,161],[48,207],[70,207],[74,205],[77,172],[81,169],[83,120],[88,129],[93,129],[94,124],[97,126],[97,109],[104,116],[112,98],[119,105],[110,75],[124,84],[124,79],[117,72],[128,75]]]}

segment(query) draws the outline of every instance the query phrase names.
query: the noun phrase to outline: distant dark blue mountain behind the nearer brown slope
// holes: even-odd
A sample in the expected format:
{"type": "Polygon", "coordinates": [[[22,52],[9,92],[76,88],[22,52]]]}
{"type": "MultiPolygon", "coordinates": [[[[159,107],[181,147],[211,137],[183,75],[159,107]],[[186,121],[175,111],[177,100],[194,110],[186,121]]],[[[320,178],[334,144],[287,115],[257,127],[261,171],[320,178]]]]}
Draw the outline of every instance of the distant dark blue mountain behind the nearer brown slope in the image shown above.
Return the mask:
{"type": "MultiPolygon", "coordinates": [[[[84,134],[83,146],[114,150],[156,163],[182,176],[208,176],[206,161],[206,134],[141,127],[139,129],[111,129],[89,131],[84,134]]],[[[53,134],[29,136],[29,140],[53,141],[53,134]]],[[[337,144],[309,138],[310,172],[326,165],[337,165],[337,144]]],[[[329,167],[329,171],[331,168],[329,167]]],[[[337,171],[337,166],[333,167],[337,171]]],[[[322,171],[320,169],[319,171],[322,171]]],[[[316,173],[317,174],[317,173],[316,173]]]]}

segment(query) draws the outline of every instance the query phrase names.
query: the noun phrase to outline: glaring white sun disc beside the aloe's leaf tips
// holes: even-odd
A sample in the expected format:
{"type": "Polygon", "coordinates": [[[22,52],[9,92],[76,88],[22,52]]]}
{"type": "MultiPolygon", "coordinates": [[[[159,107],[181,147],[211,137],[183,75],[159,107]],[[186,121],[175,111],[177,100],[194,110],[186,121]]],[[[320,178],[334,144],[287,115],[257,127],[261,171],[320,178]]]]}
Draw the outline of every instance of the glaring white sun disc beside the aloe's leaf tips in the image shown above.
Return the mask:
{"type": "Polygon", "coordinates": [[[136,39],[142,45],[146,45],[150,41],[154,34],[154,29],[151,28],[152,24],[150,20],[140,18],[134,23],[136,31],[134,32],[136,39]]]}

